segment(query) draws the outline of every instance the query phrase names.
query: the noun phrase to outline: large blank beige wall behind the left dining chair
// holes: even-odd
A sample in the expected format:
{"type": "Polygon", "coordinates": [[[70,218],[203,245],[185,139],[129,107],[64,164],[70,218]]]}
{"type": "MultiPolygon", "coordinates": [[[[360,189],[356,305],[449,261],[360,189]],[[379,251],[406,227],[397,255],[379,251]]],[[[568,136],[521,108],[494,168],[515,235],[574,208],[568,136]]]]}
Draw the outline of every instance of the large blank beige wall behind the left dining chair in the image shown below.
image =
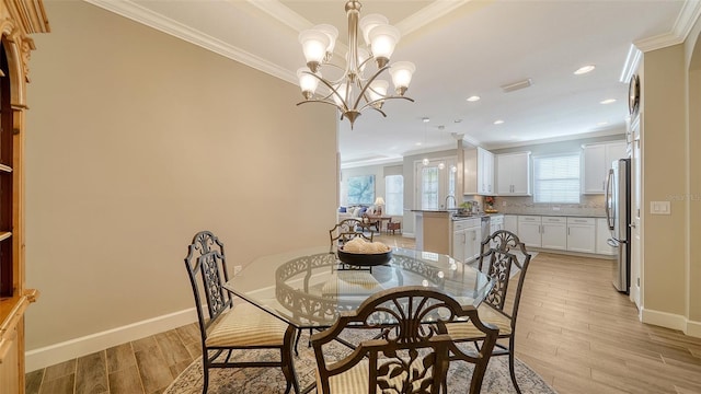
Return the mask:
{"type": "Polygon", "coordinates": [[[298,88],[82,1],[48,1],[26,135],[36,349],[193,306],[183,258],[325,244],[336,124],[298,88]]]}

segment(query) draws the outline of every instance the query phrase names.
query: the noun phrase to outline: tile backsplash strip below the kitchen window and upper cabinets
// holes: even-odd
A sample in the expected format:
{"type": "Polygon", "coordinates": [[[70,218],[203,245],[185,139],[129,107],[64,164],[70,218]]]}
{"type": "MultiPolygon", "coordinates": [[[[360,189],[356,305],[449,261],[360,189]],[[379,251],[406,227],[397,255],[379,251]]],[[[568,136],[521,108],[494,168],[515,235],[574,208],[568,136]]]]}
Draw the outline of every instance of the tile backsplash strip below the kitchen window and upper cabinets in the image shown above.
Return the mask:
{"type": "Polygon", "coordinates": [[[604,195],[583,195],[579,204],[540,204],[532,197],[495,197],[494,209],[501,213],[602,217],[604,195]]]}

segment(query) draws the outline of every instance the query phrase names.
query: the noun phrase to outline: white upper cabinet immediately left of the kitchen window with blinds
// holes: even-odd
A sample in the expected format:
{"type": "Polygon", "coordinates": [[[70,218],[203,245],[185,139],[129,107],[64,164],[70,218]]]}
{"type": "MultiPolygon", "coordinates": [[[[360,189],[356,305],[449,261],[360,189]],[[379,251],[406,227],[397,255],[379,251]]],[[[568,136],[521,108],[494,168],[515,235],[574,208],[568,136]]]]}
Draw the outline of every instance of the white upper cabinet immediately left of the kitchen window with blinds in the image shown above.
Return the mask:
{"type": "Polygon", "coordinates": [[[497,154],[496,185],[499,196],[530,196],[530,152],[497,154]]]}

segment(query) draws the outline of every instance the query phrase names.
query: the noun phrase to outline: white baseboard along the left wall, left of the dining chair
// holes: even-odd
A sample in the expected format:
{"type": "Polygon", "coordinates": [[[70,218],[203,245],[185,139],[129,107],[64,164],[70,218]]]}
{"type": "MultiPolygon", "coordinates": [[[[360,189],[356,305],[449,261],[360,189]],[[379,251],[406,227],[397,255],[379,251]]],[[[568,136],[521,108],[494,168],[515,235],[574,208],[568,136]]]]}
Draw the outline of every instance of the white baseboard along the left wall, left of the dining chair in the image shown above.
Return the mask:
{"type": "Polygon", "coordinates": [[[113,346],[166,332],[197,321],[194,308],[148,318],[102,333],[66,340],[25,352],[25,372],[32,372],[113,346]]]}

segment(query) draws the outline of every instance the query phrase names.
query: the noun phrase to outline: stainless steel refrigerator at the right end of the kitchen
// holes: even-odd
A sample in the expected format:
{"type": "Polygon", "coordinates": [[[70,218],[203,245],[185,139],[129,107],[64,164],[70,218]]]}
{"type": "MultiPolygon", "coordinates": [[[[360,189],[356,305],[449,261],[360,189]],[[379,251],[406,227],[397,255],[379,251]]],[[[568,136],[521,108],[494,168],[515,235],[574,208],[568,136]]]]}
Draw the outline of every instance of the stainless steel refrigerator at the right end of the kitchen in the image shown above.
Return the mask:
{"type": "Polygon", "coordinates": [[[618,256],[613,287],[629,293],[631,287],[631,160],[613,161],[606,182],[606,218],[611,237],[608,244],[618,256]]]}

